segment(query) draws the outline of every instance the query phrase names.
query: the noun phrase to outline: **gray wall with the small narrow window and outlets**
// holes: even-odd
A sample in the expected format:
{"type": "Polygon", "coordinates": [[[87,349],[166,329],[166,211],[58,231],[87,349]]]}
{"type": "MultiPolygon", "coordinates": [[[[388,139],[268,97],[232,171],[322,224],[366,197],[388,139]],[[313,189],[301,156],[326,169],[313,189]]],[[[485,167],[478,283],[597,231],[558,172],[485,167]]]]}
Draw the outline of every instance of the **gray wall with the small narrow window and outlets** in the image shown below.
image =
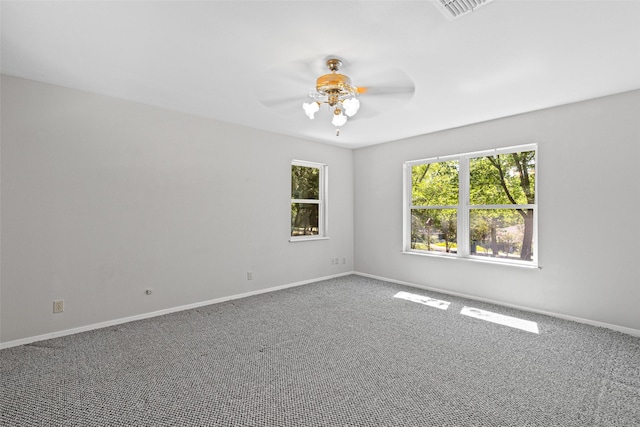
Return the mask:
{"type": "Polygon", "coordinates": [[[353,151],[1,84],[0,342],[353,270],[353,151]],[[329,165],[329,240],[288,242],[292,159],[329,165]]]}

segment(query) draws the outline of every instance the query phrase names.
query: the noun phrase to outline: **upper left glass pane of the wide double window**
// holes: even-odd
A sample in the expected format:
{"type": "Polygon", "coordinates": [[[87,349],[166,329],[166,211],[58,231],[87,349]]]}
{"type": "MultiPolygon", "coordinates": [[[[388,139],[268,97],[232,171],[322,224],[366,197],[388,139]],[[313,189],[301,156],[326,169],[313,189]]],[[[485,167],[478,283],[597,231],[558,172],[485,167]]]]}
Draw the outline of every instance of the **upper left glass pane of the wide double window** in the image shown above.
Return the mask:
{"type": "Polygon", "coordinates": [[[457,205],[458,161],[412,166],[411,199],[414,206],[457,205]]]}

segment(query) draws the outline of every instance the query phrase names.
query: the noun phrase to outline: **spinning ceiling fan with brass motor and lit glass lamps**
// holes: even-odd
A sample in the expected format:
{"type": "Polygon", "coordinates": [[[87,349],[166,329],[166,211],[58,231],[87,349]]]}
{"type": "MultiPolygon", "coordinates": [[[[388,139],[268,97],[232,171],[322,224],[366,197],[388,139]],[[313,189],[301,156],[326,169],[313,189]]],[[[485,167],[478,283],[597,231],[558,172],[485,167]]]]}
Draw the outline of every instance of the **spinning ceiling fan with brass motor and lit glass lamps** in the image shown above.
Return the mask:
{"type": "MultiPolygon", "coordinates": [[[[328,57],[325,64],[329,72],[316,79],[315,88],[308,92],[306,102],[301,102],[304,100],[302,90],[297,91],[300,95],[285,97],[282,90],[274,92],[272,89],[269,93],[259,95],[259,99],[267,107],[276,108],[282,112],[286,111],[287,114],[293,113],[290,107],[297,105],[296,110],[299,112],[299,108],[302,106],[304,113],[312,120],[315,118],[315,114],[326,105],[332,113],[331,123],[336,129],[336,136],[339,136],[340,126],[344,125],[348,118],[354,118],[356,113],[360,112],[358,118],[367,118],[380,112],[395,111],[401,104],[408,102],[415,92],[413,80],[396,68],[384,69],[383,67],[380,69],[379,66],[376,66],[368,71],[361,68],[363,75],[359,79],[371,84],[356,86],[349,76],[339,72],[343,60],[337,57],[328,57]],[[360,102],[361,97],[362,103],[360,102]]],[[[273,75],[275,79],[270,79],[269,87],[273,88],[273,84],[276,83],[274,80],[283,80],[283,77],[285,80],[289,78],[290,81],[281,83],[291,87],[292,89],[287,90],[286,94],[292,94],[293,87],[301,86],[301,82],[310,81],[309,78],[301,75],[301,71],[296,67],[278,71],[273,75]]]]}

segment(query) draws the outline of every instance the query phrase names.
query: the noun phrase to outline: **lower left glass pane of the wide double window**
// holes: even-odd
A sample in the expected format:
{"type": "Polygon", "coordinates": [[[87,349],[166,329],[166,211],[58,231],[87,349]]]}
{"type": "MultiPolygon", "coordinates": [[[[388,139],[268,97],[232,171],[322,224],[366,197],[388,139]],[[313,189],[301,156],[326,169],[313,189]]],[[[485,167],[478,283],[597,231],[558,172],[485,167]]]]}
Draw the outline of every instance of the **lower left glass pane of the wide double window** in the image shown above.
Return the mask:
{"type": "Polygon", "coordinates": [[[411,249],[456,253],[457,225],[457,209],[412,209],[411,249]]]}

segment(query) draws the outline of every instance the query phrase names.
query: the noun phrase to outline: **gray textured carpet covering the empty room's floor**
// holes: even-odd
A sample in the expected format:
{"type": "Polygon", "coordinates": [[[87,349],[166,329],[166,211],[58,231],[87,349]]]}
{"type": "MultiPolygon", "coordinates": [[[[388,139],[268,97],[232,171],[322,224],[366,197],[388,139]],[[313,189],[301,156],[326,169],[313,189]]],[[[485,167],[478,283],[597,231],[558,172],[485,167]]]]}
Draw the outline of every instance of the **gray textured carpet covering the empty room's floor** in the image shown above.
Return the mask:
{"type": "Polygon", "coordinates": [[[359,276],[0,360],[2,426],[640,426],[640,339],[359,276]],[[462,316],[465,305],[540,334],[462,316]]]}

